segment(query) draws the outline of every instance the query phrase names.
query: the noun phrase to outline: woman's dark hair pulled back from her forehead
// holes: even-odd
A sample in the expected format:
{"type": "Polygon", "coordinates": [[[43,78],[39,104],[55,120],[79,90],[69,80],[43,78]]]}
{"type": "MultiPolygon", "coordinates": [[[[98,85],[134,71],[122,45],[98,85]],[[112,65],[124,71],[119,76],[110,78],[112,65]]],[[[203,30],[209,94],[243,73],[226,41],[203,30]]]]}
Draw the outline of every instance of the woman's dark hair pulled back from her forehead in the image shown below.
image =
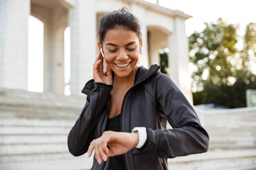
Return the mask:
{"type": "Polygon", "coordinates": [[[130,13],[126,7],[123,7],[121,10],[113,11],[100,18],[98,29],[99,42],[102,44],[105,34],[109,29],[118,27],[134,31],[137,34],[139,41],[141,41],[141,26],[139,19],[130,13]]]}

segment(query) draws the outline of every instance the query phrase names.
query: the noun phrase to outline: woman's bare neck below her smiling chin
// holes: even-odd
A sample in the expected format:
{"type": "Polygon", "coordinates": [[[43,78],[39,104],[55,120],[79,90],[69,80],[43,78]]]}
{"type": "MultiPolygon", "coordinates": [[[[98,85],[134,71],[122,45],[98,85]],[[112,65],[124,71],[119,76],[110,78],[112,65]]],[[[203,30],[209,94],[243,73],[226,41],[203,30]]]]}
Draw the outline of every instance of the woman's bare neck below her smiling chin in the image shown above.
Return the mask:
{"type": "Polygon", "coordinates": [[[130,73],[130,75],[128,75],[127,77],[118,77],[115,74],[114,81],[113,81],[113,88],[115,86],[115,88],[123,89],[123,88],[130,88],[131,86],[133,86],[137,69],[138,69],[138,66],[135,67],[130,73]]]}

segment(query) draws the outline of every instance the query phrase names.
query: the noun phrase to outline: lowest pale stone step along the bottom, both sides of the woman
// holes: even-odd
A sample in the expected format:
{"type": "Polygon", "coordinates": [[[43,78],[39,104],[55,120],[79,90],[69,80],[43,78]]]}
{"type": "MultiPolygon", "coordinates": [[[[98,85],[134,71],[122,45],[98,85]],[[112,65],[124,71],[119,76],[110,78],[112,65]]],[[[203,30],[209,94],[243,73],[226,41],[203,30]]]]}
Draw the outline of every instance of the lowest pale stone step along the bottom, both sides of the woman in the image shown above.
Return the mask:
{"type": "MultiPolygon", "coordinates": [[[[254,170],[256,150],[218,150],[168,159],[169,170],[254,170]]],[[[0,163],[1,170],[90,170],[92,157],[0,163]]]]}

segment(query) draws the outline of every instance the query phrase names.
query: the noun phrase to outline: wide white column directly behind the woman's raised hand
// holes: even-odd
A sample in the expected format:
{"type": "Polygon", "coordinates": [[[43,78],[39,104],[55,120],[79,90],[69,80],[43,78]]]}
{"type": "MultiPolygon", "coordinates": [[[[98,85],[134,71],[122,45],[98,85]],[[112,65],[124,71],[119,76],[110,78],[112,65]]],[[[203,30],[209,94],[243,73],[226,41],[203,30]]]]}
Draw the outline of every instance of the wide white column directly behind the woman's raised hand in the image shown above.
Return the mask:
{"type": "Polygon", "coordinates": [[[96,12],[94,0],[75,0],[69,11],[71,39],[71,94],[81,94],[85,83],[92,79],[96,51],[96,12]]]}

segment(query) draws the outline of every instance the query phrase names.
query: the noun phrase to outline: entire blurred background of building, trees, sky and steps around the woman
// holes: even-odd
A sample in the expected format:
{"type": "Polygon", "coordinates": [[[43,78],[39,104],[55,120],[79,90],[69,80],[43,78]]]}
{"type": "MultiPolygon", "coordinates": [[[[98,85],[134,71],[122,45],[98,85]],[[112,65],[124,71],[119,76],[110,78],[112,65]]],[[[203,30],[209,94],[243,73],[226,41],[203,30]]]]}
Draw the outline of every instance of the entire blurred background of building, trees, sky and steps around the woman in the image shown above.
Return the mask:
{"type": "Polygon", "coordinates": [[[141,65],[161,66],[210,136],[208,152],[168,159],[169,169],[256,169],[254,0],[0,0],[0,169],[91,168],[67,135],[99,18],[123,6],[142,24],[141,65]]]}

